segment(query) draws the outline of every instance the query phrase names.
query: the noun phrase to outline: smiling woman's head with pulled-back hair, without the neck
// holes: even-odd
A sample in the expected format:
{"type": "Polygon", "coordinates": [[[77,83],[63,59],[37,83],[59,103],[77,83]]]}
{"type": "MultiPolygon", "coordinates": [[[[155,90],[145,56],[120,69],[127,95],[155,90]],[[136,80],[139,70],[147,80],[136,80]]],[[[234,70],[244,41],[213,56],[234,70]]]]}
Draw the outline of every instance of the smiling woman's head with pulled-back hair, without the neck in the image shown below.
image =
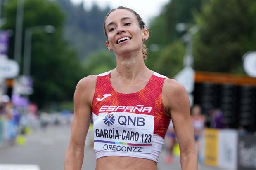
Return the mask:
{"type": "Polygon", "coordinates": [[[148,30],[141,29],[133,14],[126,9],[116,9],[105,21],[108,40],[106,46],[120,55],[131,51],[141,50],[143,40],[148,39],[148,30]]]}

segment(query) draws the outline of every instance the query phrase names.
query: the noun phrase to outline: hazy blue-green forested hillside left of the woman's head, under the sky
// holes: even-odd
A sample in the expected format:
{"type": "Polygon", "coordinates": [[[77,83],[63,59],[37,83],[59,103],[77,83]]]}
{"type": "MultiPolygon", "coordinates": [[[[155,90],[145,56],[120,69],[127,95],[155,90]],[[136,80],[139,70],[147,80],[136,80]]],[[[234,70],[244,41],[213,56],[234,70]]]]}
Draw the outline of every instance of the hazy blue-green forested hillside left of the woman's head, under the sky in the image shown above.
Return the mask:
{"type": "Polygon", "coordinates": [[[83,2],[73,5],[70,0],[56,0],[66,13],[64,36],[76,49],[78,57],[83,60],[95,51],[105,49],[104,18],[110,8],[100,9],[97,4],[85,10],[83,2]]]}

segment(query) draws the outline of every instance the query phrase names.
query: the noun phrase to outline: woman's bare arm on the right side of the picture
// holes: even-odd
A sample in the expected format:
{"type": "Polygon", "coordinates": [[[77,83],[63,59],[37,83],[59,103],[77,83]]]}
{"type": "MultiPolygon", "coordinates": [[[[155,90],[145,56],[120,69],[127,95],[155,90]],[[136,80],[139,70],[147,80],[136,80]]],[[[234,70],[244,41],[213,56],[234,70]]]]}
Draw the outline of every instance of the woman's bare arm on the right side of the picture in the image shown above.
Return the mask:
{"type": "Polygon", "coordinates": [[[198,159],[194,142],[194,128],[190,117],[190,101],[185,88],[173,79],[166,79],[163,102],[173,121],[173,128],[180,147],[182,170],[197,170],[198,159]]]}

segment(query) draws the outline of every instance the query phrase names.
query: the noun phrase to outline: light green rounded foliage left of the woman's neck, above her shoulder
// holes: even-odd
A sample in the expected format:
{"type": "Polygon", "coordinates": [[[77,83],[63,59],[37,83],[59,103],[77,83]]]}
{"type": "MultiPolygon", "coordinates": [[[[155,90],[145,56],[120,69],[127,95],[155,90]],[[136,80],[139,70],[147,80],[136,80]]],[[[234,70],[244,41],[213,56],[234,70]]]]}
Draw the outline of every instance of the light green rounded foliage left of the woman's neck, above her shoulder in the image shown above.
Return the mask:
{"type": "Polygon", "coordinates": [[[113,53],[103,50],[90,55],[83,62],[83,68],[90,75],[98,75],[116,67],[116,60],[113,53]]]}

